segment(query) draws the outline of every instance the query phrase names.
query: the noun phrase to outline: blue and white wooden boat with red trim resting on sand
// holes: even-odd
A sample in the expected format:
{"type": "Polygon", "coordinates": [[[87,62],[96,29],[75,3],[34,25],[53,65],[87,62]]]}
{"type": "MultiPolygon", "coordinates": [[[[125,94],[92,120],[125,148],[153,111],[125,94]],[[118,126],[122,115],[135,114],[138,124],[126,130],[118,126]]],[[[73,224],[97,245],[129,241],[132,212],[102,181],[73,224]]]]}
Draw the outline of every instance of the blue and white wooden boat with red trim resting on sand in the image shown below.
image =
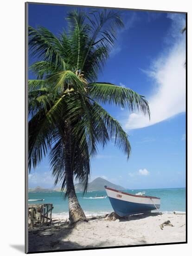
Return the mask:
{"type": "Polygon", "coordinates": [[[110,203],[119,216],[145,213],[160,209],[160,198],[146,195],[132,195],[105,186],[110,203]]]}

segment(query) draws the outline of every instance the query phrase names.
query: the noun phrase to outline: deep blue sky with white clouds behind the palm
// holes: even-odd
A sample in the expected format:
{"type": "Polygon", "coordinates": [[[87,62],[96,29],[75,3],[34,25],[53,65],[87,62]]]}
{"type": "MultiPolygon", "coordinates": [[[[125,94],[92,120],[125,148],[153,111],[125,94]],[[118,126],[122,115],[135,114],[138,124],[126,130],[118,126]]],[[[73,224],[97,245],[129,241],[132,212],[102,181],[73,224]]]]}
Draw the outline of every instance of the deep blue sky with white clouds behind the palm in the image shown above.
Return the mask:
{"type": "MultiPolygon", "coordinates": [[[[58,34],[72,7],[29,4],[29,25],[58,34]]],[[[90,8],[84,8],[89,11],[90,8]]],[[[98,147],[91,177],[103,177],[130,189],[178,188],[186,183],[185,14],[120,10],[125,28],[98,81],[115,83],[145,95],[151,120],[128,109],[104,105],[129,135],[126,156],[109,143],[98,147]]],[[[29,57],[29,65],[35,61],[29,57]]],[[[35,76],[29,73],[29,78],[35,76]]],[[[29,175],[29,187],[53,187],[48,159],[29,175]]]]}

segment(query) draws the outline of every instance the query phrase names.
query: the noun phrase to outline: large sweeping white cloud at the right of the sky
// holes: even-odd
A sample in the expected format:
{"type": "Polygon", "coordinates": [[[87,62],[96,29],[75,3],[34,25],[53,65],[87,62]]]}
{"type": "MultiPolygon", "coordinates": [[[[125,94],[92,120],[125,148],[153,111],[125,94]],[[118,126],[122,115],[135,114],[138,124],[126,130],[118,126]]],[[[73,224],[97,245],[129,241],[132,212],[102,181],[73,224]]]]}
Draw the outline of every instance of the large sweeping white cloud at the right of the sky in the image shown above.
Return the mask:
{"type": "Polygon", "coordinates": [[[143,71],[152,79],[154,88],[156,88],[152,95],[147,97],[151,120],[149,121],[140,113],[133,113],[124,122],[126,130],[154,125],[186,111],[186,69],[184,67],[186,47],[185,36],[180,34],[185,20],[182,16],[179,17],[179,19],[177,15],[168,17],[173,20],[171,27],[173,31],[169,38],[172,38],[172,44],[173,41],[174,44],[157,60],[153,61],[149,70],[143,71]]]}

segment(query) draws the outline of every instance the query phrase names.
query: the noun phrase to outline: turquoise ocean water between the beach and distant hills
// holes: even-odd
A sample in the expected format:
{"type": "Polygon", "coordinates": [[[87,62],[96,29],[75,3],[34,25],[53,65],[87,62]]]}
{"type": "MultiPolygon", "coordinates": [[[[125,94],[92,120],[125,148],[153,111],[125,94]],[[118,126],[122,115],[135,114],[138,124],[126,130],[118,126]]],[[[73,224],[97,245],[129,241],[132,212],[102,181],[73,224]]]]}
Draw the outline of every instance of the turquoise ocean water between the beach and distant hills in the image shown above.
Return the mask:
{"type": "MultiPolygon", "coordinates": [[[[145,195],[157,196],[161,199],[160,211],[186,211],[186,189],[134,189],[123,190],[124,192],[135,194],[145,191],[145,195]]],[[[94,198],[107,195],[105,191],[89,191],[85,195],[82,192],[76,192],[77,198],[86,216],[101,215],[113,211],[109,198],[94,198]]],[[[28,193],[29,199],[45,199],[44,203],[53,203],[53,215],[68,216],[68,200],[64,199],[64,194],[59,192],[51,193],[28,193]]],[[[29,202],[41,203],[41,202],[29,202]]]]}

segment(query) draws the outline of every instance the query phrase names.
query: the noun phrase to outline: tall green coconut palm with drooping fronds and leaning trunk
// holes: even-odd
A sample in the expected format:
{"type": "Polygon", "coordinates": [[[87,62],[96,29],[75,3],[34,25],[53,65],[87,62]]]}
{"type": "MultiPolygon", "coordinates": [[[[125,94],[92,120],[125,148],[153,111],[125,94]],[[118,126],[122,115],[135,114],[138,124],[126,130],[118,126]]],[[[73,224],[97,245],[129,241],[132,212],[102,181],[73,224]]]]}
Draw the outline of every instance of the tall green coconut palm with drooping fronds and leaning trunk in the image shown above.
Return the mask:
{"type": "Polygon", "coordinates": [[[97,74],[115,43],[120,15],[103,10],[68,14],[67,31],[56,37],[45,27],[29,27],[29,48],[38,61],[30,67],[37,80],[29,80],[29,171],[49,154],[55,184],[66,187],[70,222],[86,217],[77,200],[74,180],[86,192],[90,159],[98,143],[109,141],[129,157],[128,135],[102,108],[111,103],[149,114],[144,96],[111,83],[96,82],[97,74]]]}

